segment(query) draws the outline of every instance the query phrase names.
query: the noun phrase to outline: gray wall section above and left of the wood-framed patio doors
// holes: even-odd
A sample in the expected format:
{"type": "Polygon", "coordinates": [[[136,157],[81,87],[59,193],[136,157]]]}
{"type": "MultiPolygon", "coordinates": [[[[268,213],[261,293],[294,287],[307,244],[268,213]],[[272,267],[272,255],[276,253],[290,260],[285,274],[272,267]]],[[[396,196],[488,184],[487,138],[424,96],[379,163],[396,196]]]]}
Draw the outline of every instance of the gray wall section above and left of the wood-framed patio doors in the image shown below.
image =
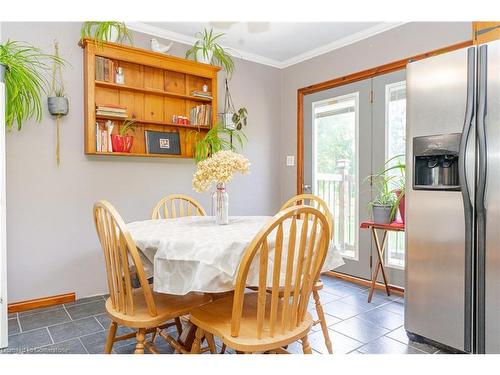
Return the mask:
{"type": "Polygon", "coordinates": [[[297,169],[286,155],[297,153],[297,90],[350,73],[470,40],[470,22],[413,22],[282,71],[280,180],[281,200],[296,193],[297,169]]]}

